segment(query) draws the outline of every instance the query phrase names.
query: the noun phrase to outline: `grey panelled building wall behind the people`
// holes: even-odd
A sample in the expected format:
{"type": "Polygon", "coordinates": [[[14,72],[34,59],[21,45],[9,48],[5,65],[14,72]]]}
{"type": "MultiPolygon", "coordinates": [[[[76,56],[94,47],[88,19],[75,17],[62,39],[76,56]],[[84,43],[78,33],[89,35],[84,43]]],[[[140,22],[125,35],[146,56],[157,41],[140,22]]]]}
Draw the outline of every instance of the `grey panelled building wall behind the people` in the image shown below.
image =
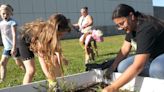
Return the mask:
{"type": "MultiPolygon", "coordinates": [[[[89,8],[94,18],[94,25],[103,30],[105,35],[118,34],[114,31],[111,20],[112,11],[120,4],[133,6],[136,10],[153,15],[152,0],[0,0],[14,8],[14,18],[20,25],[37,18],[47,19],[53,13],[63,13],[72,23],[76,23],[80,16],[80,9],[89,8]]],[[[66,38],[79,37],[79,33],[72,31],[66,38]]]]}

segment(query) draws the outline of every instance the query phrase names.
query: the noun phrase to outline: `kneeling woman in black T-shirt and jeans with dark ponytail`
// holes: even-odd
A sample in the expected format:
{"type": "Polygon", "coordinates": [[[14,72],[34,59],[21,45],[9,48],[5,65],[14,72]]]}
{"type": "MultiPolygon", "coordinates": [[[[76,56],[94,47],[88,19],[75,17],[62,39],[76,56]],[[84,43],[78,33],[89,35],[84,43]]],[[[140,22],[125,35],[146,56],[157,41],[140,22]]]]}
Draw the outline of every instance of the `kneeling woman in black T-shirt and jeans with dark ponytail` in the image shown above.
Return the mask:
{"type": "Polygon", "coordinates": [[[122,75],[102,92],[118,92],[138,74],[164,79],[164,22],[136,12],[126,4],[118,5],[113,11],[112,20],[117,28],[126,32],[124,43],[112,64],[122,75]],[[136,53],[129,56],[132,49],[136,53]]]}

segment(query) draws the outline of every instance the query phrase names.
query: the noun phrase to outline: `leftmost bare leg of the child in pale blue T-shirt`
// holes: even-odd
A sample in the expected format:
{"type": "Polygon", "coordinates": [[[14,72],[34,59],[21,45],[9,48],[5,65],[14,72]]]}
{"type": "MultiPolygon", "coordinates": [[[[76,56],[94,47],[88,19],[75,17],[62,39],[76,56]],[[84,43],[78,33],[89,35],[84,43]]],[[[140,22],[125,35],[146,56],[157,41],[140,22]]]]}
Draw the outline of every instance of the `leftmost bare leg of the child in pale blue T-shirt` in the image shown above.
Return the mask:
{"type": "Polygon", "coordinates": [[[7,68],[6,68],[6,65],[7,65],[7,62],[8,62],[8,57],[2,55],[2,58],[1,58],[1,62],[0,62],[0,77],[1,77],[1,82],[4,81],[5,77],[6,77],[6,71],[7,71],[7,68]]]}

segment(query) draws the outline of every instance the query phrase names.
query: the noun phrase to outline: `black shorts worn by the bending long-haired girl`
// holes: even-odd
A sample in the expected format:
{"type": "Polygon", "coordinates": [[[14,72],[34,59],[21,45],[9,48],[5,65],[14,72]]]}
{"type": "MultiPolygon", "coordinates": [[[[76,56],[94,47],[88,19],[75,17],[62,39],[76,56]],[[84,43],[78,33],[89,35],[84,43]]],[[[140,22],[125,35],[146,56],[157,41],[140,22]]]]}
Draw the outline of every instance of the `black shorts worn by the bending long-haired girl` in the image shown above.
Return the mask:
{"type": "Polygon", "coordinates": [[[20,58],[23,61],[34,58],[34,53],[29,48],[30,44],[26,42],[25,38],[19,37],[18,44],[20,58]]]}

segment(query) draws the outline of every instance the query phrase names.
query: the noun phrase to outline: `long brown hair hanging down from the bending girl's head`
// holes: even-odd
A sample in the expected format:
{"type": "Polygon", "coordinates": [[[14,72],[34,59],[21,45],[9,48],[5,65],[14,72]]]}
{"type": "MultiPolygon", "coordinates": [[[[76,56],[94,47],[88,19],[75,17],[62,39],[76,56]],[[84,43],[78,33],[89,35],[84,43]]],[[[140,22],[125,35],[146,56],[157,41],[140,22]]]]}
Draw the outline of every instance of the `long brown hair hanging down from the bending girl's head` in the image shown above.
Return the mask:
{"type": "Polygon", "coordinates": [[[31,50],[42,54],[49,73],[52,77],[56,77],[53,63],[54,55],[56,52],[59,53],[61,69],[63,58],[58,33],[69,32],[71,30],[66,17],[62,14],[52,15],[47,21],[35,20],[26,23],[22,29],[24,30],[23,35],[30,38],[31,50]]]}

